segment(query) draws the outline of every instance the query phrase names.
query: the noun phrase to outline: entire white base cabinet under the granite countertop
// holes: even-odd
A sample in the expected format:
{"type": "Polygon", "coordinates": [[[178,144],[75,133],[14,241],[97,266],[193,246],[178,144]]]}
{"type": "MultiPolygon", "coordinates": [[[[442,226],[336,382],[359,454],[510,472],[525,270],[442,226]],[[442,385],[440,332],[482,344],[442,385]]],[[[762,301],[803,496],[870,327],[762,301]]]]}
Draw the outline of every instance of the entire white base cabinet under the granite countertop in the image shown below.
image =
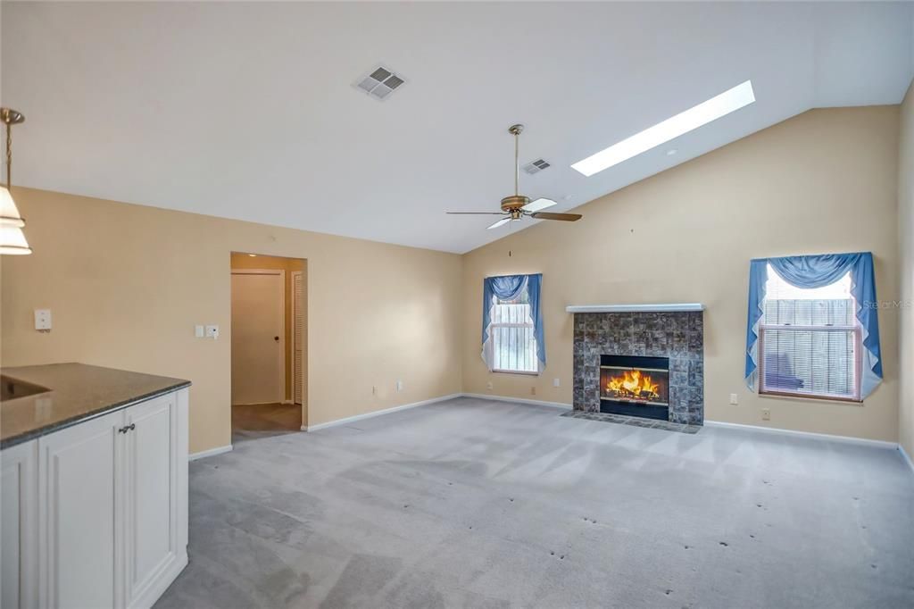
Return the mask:
{"type": "Polygon", "coordinates": [[[186,389],[5,449],[0,465],[4,609],[150,607],[186,566],[186,389]]]}

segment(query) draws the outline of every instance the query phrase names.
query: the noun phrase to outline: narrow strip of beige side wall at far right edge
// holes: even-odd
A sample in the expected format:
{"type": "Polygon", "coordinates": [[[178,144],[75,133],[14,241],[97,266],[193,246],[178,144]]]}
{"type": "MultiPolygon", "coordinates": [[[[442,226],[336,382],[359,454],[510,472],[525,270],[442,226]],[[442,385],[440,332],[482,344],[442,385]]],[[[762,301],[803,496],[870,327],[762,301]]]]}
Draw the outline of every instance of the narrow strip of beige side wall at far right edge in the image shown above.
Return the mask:
{"type": "Polygon", "coordinates": [[[901,390],[898,442],[914,458],[914,82],[901,105],[898,236],[901,252],[901,390]]]}

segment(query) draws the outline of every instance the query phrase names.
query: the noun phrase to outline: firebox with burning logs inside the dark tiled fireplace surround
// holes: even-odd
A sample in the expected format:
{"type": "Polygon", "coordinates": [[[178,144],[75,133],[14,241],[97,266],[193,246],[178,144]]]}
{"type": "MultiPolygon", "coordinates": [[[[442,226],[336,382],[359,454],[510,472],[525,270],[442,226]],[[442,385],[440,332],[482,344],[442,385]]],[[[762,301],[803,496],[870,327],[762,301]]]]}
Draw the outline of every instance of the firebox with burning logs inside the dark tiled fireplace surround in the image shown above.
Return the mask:
{"type": "Polygon", "coordinates": [[[600,412],[666,421],[670,413],[670,360],[600,356],[600,412]]]}

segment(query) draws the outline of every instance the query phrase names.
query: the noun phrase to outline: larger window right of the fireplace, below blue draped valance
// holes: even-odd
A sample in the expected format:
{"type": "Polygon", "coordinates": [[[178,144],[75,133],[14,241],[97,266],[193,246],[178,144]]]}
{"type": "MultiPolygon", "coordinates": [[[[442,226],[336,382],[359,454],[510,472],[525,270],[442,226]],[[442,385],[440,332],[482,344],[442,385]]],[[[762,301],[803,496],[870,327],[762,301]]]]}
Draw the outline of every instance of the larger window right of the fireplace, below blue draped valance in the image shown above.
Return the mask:
{"type": "Polygon", "coordinates": [[[760,324],[760,392],[860,401],[861,328],[850,272],[798,288],[768,265],[760,324]]]}

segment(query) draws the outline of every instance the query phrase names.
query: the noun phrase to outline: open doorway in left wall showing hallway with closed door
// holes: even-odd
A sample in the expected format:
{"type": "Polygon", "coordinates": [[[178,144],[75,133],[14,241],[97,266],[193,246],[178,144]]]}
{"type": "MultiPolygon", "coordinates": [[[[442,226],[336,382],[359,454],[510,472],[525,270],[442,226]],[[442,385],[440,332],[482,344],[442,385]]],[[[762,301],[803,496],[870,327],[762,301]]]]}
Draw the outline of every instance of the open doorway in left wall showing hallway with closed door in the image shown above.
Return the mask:
{"type": "Polygon", "coordinates": [[[233,441],[306,422],[306,286],[304,260],[231,254],[233,441]]]}

